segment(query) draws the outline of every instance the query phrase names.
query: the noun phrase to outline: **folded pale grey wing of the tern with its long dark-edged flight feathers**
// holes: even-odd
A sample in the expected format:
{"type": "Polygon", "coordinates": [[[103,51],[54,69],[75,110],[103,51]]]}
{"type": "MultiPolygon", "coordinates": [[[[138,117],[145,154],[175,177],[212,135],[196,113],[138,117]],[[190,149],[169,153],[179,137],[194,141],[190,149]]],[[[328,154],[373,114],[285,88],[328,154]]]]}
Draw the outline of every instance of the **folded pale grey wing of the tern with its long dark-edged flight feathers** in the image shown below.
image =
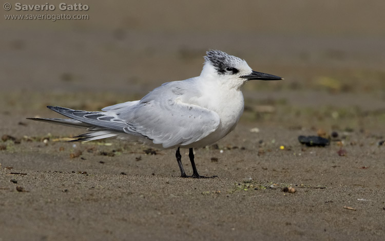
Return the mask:
{"type": "Polygon", "coordinates": [[[188,145],[215,132],[220,125],[216,112],[191,101],[201,95],[199,88],[192,85],[194,78],[169,82],[154,89],[140,101],[103,108],[107,112],[47,107],[72,119],[61,121],[61,124],[92,127],[89,128],[91,133],[79,136],[79,140],[101,139],[125,133],[150,139],[155,144],[162,144],[164,148],[188,145]]]}

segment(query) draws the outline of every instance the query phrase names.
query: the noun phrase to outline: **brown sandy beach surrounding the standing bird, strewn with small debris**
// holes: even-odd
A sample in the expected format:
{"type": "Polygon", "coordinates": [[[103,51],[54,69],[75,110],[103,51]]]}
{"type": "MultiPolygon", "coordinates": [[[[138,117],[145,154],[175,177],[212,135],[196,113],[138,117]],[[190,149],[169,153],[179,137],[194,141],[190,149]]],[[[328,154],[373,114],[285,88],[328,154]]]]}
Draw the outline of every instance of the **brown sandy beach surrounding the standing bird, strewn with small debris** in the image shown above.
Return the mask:
{"type": "Polygon", "coordinates": [[[242,2],[230,21],[227,5],[95,1],[88,21],[4,22],[0,240],[382,240],[383,4],[345,2],[242,2]],[[285,78],[247,83],[236,129],[195,150],[199,173],[218,178],[180,178],[175,150],[67,143],[82,130],[25,119],[140,99],[198,76],[210,48],[285,78]]]}

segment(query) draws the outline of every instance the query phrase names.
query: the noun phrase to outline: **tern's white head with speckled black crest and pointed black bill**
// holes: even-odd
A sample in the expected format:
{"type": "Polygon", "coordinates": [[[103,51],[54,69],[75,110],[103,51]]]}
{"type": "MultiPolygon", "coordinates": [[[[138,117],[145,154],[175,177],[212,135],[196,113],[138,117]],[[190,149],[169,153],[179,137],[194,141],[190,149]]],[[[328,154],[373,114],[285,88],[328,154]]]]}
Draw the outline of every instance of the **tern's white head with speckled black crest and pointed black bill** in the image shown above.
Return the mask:
{"type": "Polygon", "coordinates": [[[201,76],[223,81],[234,87],[241,87],[249,80],[282,80],[281,77],[252,70],[246,61],[220,50],[208,50],[201,76]]]}

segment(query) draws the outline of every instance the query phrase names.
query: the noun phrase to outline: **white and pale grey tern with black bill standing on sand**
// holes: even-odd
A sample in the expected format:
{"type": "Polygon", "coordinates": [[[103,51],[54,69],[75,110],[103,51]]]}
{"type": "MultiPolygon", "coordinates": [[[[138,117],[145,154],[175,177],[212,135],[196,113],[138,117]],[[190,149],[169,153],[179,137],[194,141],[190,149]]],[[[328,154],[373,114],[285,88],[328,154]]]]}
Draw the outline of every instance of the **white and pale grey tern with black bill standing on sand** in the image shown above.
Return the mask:
{"type": "Polygon", "coordinates": [[[247,81],[282,79],[253,71],[246,61],[219,50],[206,54],[199,77],[164,83],[141,100],[107,106],[102,112],[47,106],[70,119],[28,119],[87,129],[72,141],[114,137],[176,148],[181,177],[205,178],[198,174],[192,149],[214,144],[233,131],[243,113],[241,87],[247,81]],[[192,176],[184,172],[180,148],[189,149],[192,176]]]}

